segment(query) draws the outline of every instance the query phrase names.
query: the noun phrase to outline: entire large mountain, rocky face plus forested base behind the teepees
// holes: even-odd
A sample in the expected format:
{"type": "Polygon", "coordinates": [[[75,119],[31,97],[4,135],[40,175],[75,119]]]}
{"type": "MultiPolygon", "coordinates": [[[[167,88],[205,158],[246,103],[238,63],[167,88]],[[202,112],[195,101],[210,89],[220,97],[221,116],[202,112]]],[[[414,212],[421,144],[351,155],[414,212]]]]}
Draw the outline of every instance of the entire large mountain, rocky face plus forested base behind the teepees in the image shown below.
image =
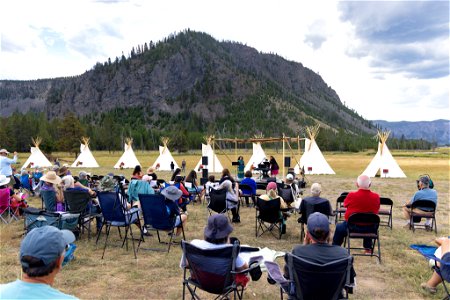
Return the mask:
{"type": "Polygon", "coordinates": [[[37,134],[54,145],[49,150],[66,149],[56,140],[69,135],[54,127],[67,120],[79,121],[71,134],[90,136],[97,149],[120,149],[127,136],[142,149],[155,149],[162,135],[178,149],[198,148],[206,134],[304,136],[305,126],[320,123],[325,150],[357,151],[375,144],[376,131],[302,64],[190,30],[133,47],[79,76],[2,80],[0,113],[7,123],[0,137],[16,143],[13,149],[37,134]]]}

